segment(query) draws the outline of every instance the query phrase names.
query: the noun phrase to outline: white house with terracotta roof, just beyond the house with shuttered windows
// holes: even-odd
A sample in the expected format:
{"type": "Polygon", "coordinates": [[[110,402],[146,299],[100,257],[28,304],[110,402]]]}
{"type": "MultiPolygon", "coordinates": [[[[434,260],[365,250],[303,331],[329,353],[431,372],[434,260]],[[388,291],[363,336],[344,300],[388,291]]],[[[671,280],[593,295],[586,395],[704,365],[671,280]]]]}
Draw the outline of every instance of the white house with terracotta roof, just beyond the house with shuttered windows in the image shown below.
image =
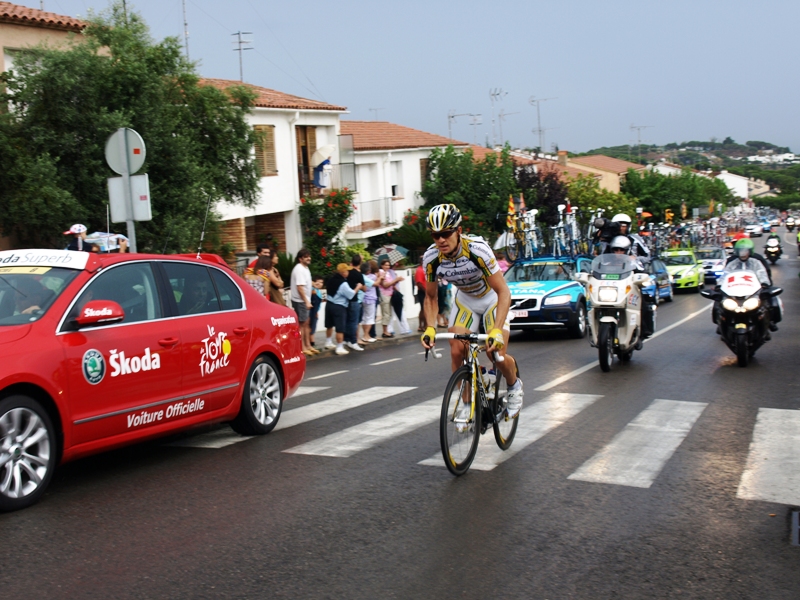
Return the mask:
{"type": "Polygon", "coordinates": [[[347,224],[350,243],[386,233],[403,214],[422,204],[419,193],[434,148],[469,144],[386,121],[341,121],[341,137],[352,136],[358,190],[347,224]]]}

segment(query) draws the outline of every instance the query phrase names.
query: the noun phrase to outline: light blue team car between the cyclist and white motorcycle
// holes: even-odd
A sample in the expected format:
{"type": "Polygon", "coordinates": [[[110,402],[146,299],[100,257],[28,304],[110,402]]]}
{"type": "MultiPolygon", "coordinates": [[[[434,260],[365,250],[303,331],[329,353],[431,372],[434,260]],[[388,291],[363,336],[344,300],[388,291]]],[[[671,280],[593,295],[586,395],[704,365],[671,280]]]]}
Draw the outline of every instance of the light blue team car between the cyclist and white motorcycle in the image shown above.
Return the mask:
{"type": "Polygon", "coordinates": [[[511,290],[511,329],[566,329],[586,335],[586,297],[575,273],[589,272],[589,257],[537,257],[514,263],[505,278],[511,290]]]}

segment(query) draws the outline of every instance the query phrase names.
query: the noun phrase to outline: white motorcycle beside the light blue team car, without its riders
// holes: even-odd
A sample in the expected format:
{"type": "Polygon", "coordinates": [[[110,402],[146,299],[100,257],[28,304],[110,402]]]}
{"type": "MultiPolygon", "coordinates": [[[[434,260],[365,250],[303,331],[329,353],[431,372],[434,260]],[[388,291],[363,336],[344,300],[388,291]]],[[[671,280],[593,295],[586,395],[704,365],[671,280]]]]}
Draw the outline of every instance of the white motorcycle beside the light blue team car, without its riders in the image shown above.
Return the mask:
{"type": "Polygon", "coordinates": [[[641,266],[633,256],[601,254],[592,261],[591,273],[575,276],[586,288],[590,340],[598,349],[603,371],[611,370],[614,354],[622,362],[629,361],[633,351],[641,350],[644,339],[655,331],[656,307],[646,305],[642,294],[650,276],[635,273],[637,268],[641,266]],[[648,319],[650,327],[645,323],[648,319]]]}

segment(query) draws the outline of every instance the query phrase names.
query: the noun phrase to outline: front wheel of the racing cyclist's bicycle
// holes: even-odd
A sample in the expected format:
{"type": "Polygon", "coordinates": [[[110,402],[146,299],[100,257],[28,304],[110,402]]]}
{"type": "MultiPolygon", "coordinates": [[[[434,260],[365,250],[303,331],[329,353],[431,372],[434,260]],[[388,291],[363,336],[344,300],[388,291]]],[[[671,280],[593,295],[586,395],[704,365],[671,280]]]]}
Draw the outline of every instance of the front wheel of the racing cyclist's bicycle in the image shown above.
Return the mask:
{"type": "Polygon", "coordinates": [[[439,419],[439,441],[444,464],[453,475],[463,475],[472,464],[481,437],[481,410],[475,403],[472,370],[464,365],[450,377],[444,391],[442,415],[439,419]],[[470,416],[456,421],[464,398],[472,403],[470,416]]]}

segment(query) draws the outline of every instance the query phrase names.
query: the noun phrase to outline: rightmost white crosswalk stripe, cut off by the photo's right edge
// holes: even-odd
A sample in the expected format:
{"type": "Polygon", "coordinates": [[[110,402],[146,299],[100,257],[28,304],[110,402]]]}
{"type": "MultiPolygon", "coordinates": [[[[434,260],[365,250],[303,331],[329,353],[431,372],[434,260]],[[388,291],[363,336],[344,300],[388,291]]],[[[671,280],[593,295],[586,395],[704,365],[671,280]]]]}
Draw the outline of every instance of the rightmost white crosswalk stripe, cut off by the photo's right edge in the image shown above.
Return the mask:
{"type": "Polygon", "coordinates": [[[800,411],[758,409],[736,497],[800,504],[800,411]]]}

